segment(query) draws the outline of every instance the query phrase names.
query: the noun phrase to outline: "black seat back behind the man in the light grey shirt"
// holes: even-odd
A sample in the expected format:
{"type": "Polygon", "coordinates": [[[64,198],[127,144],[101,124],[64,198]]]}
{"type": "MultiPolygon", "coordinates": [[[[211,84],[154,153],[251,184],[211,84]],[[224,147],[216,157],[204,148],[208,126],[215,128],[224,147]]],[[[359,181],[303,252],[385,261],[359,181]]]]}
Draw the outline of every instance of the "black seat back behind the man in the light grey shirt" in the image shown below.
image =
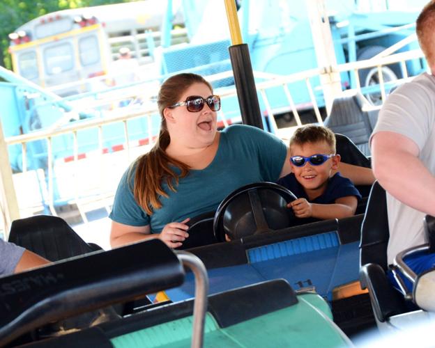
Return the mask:
{"type": "Polygon", "coordinates": [[[392,287],[386,275],[389,238],[386,191],[374,182],[361,226],[360,283],[369,290],[378,323],[409,311],[404,296],[392,287]]]}

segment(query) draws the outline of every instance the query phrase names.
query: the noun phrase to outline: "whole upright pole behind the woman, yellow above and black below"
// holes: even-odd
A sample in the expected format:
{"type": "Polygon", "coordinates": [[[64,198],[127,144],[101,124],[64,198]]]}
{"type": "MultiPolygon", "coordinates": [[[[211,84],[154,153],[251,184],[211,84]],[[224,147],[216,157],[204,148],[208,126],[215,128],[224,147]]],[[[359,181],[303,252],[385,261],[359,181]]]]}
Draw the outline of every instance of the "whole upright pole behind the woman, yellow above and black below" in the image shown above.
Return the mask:
{"type": "Polygon", "coordinates": [[[242,43],[236,2],[234,0],[225,0],[225,8],[227,10],[227,19],[232,44],[232,46],[229,47],[229,57],[233,68],[234,83],[236,84],[242,121],[245,125],[252,125],[263,129],[249,48],[246,44],[242,43]]]}

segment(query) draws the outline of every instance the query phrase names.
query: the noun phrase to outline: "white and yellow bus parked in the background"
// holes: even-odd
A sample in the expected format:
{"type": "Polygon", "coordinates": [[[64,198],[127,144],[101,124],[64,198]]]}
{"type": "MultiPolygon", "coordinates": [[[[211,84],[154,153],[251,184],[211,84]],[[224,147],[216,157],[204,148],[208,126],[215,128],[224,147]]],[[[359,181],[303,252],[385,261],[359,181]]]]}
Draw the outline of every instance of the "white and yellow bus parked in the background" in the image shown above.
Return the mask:
{"type": "MultiPolygon", "coordinates": [[[[183,24],[180,2],[171,6],[171,25],[183,24]]],[[[107,75],[122,42],[130,38],[140,63],[152,61],[146,42],[160,45],[160,25],[167,16],[160,1],[147,0],[114,5],[61,10],[40,16],[10,33],[14,71],[43,87],[71,82],[56,89],[62,96],[83,93],[96,86],[89,78],[107,75]],[[144,40],[145,47],[139,45],[144,40]]],[[[170,30],[170,29],[169,29],[170,30]]],[[[183,29],[173,32],[165,45],[185,41],[183,29]]],[[[100,86],[101,87],[101,86],[100,86]]]]}

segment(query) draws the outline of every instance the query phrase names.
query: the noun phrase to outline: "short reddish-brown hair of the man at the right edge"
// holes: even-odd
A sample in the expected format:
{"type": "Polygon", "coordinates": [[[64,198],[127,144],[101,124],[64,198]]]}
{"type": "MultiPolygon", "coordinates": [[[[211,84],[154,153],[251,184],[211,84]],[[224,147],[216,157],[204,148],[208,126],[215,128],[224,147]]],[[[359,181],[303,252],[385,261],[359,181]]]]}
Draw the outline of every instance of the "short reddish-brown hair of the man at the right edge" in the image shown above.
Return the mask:
{"type": "Polygon", "coordinates": [[[417,18],[415,31],[422,52],[425,54],[429,65],[435,64],[435,0],[430,1],[422,9],[417,18]]]}

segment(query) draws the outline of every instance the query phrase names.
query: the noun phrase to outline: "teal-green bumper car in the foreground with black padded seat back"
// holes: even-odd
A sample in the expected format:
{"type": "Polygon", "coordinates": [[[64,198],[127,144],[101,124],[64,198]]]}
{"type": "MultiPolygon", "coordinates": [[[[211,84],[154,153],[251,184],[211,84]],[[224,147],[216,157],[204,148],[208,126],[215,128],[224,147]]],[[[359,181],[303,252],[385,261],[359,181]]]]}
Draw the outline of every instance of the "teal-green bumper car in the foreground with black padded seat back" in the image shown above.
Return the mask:
{"type": "Polygon", "coordinates": [[[284,280],[273,280],[207,297],[207,285],[198,258],[157,239],[6,276],[0,278],[0,345],[351,347],[319,295],[296,294],[284,280]],[[180,285],[183,265],[197,274],[194,303],[128,317],[112,306],[180,285]]]}

